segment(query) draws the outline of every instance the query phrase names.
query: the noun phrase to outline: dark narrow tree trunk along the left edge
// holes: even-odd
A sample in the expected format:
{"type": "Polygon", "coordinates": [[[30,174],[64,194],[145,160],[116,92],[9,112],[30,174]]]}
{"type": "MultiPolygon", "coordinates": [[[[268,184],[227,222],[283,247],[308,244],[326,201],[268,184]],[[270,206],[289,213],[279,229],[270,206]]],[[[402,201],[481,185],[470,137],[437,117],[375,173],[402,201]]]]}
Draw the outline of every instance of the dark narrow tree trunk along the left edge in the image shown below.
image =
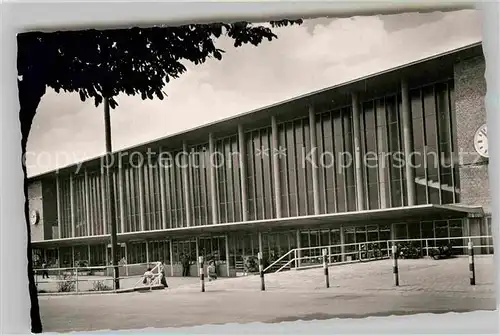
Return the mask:
{"type": "Polygon", "coordinates": [[[28,135],[31,129],[31,124],[36,114],[36,109],[42,96],[45,94],[45,85],[40,83],[40,78],[38,80],[28,80],[28,78],[23,78],[24,80],[18,81],[19,89],[19,104],[21,110],[19,112],[19,119],[21,121],[21,150],[22,150],[22,169],[24,174],[24,217],[26,222],[26,232],[27,232],[27,257],[28,257],[28,281],[29,281],[29,294],[31,300],[31,332],[41,333],[42,332],[42,320],[40,318],[40,306],[38,304],[38,290],[35,284],[35,276],[33,272],[33,260],[31,253],[31,226],[29,222],[29,207],[28,207],[28,175],[25,164],[26,149],[28,143],[28,135]]]}

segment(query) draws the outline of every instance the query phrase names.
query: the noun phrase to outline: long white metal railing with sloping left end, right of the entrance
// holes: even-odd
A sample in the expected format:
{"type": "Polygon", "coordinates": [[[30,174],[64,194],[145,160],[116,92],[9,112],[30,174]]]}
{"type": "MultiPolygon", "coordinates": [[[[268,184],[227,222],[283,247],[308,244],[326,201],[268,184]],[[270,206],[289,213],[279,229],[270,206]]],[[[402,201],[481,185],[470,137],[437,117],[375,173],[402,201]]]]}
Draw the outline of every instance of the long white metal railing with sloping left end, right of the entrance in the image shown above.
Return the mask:
{"type": "MultiPolygon", "coordinates": [[[[276,259],[268,265],[264,272],[269,273],[273,267],[279,267],[274,271],[278,273],[287,268],[310,268],[317,267],[322,264],[322,250],[327,249],[328,264],[346,264],[359,261],[370,261],[391,257],[392,244],[420,244],[419,249],[429,256],[429,251],[435,249],[439,242],[447,242],[452,244],[453,249],[467,249],[467,242],[474,241],[474,248],[489,248],[493,250],[493,236],[464,236],[464,237],[443,237],[443,238],[420,238],[420,239],[394,239],[394,240],[378,240],[369,242],[357,242],[347,244],[323,245],[316,247],[294,248],[276,259]],[[451,241],[462,241],[460,243],[452,243],[451,241]],[[476,243],[475,240],[479,240],[476,243]],[[490,240],[489,243],[482,243],[482,240],[490,240]],[[346,250],[347,249],[347,250],[346,250]],[[364,257],[363,257],[364,256],[364,257]],[[288,258],[288,260],[287,260],[288,258]]],[[[424,255],[422,255],[424,256],[424,255]]]]}

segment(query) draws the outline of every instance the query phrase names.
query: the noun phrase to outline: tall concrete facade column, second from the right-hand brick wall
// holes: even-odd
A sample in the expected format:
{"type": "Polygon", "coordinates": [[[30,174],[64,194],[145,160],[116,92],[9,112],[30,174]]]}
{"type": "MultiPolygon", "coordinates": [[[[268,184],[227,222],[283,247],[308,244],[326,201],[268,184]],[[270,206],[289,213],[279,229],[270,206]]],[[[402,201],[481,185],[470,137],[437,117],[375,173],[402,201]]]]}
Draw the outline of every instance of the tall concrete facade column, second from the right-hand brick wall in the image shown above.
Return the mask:
{"type": "Polygon", "coordinates": [[[356,167],[356,202],[357,210],[365,209],[365,185],[363,182],[363,160],[361,157],[361,129],[360,129],[360,108],[358,94],[352,94],[352,132],[354,135],[354,164],[356,167]]]}

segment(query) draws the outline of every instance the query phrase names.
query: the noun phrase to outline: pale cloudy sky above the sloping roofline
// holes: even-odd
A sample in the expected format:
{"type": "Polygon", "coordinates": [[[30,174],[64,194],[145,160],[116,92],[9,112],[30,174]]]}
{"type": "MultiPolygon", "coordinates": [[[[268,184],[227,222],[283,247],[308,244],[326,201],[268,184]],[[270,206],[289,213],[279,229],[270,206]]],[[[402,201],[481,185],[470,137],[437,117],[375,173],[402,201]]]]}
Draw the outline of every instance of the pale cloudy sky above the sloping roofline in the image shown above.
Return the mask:
{"type": "MultiPolygon", "coordinates": [[[[220,38],[222,61],[186,63],[163,101],[117,98],[113,151],[478,42],[481,29],[480,13],[464,10],[306,20],[258,47],[220,38]]],[[[48,89],[27,150],[28,176],[104,154],[102,105],[48,89]]]]}

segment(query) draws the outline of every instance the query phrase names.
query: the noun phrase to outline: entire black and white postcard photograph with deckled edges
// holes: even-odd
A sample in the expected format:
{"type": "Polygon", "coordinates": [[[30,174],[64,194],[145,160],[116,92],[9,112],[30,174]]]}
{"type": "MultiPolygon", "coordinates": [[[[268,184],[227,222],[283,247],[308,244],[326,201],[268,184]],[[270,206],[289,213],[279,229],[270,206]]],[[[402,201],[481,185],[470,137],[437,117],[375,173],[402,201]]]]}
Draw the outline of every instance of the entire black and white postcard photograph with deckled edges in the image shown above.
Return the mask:
{"type": "Polygon", "coordinates": [[[478,10],[17,45],[33,333],[497,308],[478,10]]]}

